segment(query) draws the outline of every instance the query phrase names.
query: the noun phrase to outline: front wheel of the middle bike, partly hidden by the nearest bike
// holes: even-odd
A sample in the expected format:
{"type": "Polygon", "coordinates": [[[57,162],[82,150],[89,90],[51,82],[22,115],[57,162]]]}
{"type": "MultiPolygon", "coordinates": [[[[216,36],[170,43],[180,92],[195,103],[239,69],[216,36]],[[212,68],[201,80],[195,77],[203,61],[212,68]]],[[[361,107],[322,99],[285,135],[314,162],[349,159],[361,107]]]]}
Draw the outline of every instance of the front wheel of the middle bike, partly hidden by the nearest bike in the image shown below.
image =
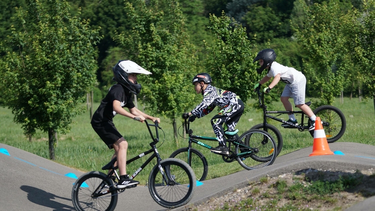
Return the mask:
{"type": "Polygon", "coordinates": [[[170,154],[170,158],[177,158],[190,165],[195,173],[196,179],[203,181],[208,173],[208,162],[205,156],[195,148],[190,148],[191,157],[189,162],[188,147],[179,148],[170,154]]]}

